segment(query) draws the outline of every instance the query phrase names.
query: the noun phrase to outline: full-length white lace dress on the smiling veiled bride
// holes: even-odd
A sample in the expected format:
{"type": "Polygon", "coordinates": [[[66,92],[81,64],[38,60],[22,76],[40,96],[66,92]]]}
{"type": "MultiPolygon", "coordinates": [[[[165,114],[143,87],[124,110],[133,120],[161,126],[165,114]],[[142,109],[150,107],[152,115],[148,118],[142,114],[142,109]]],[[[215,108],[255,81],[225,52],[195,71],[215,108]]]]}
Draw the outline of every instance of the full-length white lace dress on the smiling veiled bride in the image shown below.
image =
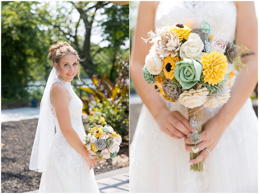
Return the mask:
{"type": "MultiPolygon", "coordinates": [[[[83,103],[71,88],[70,82],[65,82],[61,78],[56,78],[53,83],[55,82],[62,83],[71,96],[69,101],[71,125],[82,142],[84,142],[85,130],[82,125],[83,103]]],[[[45,168],[41,175],[39,192],[99,192],[93,169],[89,170],[86,160],[67,142],[57,122],[55,108],[52,105],[51,107],[56,125],[56,134],[48,151],[45,168]]]]}

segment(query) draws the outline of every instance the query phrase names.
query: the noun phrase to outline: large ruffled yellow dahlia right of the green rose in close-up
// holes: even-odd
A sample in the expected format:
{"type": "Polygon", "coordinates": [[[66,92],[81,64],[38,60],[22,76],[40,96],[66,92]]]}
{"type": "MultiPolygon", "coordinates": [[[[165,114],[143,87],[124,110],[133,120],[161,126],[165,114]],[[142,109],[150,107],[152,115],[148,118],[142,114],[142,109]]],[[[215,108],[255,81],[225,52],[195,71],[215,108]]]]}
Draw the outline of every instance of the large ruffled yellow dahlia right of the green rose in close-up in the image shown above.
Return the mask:
{"type": "Polygon", "coordinates": [[[218,51],[205,53],[201,56],[200,63],[203,67],[204,82],[208,82],[212,86],[221,82],[224,79],[224,75],[228,72],[227,57],[218,51]]]}

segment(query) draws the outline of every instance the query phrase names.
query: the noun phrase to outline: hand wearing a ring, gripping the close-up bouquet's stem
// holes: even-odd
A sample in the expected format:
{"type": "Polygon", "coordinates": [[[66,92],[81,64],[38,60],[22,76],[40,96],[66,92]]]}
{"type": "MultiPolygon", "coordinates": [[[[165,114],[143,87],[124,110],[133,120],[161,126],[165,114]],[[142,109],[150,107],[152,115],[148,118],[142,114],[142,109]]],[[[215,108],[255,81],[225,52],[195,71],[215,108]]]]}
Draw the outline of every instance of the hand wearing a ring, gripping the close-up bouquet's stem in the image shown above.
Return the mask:
{"type": "MultiPolygon", "coordinates": [[[[224,122],[219,122],[219,118],[214,116],[213,118],[209,119],[206,123],[202,125],[202,132],[200,133],[200,140],[199,143],[196,144],[199,147],[200,154],[195,159],[190,160],[189,162],[192,164],[197,164],[198,162],[203,160],[205,162],[206,157],[209,155],[209,152],[205,150],[208,149],[210,152],[215,148],[218,144],[219,139],[221,138],[222,134],[224,133],[226,126],[224,122]]],[[[190,138],[185,137],[185,149],[188,152],[193,152],[191,147],[192,144],[190,138]]]]}

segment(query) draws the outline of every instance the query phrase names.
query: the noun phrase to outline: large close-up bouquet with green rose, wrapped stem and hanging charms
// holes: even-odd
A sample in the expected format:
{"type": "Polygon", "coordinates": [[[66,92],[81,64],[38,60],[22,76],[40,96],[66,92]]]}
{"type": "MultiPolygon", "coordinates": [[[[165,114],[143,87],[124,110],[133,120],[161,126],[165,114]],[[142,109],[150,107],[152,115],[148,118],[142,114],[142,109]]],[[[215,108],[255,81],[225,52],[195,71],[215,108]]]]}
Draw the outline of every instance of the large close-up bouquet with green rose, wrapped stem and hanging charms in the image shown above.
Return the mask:
{"type": "MultiPolygon", "coordinates": [[[[194,144],[191,159],[200,153],[196,144],[202,130],[202,108],[215,108],[228,101],[235,71],[246,67],[239,54],[249,52],[243,45],[212,34],[210,24],[199,17],[185,19],[185,25],[156,28],[148,32],[149,38],[142,38],[153,44],[143,67],[146,82],[166,100],[179,101],[189,108],[194,144]]],[[[190,168],[202,171],[202,161],[190,168]]]]}

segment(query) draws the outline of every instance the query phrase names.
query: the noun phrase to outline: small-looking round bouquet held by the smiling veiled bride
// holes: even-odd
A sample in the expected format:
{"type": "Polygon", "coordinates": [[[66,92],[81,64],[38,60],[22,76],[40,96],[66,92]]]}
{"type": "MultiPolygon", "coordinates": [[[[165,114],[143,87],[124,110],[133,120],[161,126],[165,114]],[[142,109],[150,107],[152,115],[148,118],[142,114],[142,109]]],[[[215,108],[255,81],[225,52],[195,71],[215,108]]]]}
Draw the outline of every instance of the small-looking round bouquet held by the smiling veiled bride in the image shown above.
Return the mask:
{"type": "Polygon", "coordinates": [[[122,142],[121,136],[107,124],[105,126],[96,125],[89,129],[90,133],[85,136],[85,146],[89,152],[90,158],[98,158],[97,168],[99,169],[99,160],[115,158],[122,142]]]}

